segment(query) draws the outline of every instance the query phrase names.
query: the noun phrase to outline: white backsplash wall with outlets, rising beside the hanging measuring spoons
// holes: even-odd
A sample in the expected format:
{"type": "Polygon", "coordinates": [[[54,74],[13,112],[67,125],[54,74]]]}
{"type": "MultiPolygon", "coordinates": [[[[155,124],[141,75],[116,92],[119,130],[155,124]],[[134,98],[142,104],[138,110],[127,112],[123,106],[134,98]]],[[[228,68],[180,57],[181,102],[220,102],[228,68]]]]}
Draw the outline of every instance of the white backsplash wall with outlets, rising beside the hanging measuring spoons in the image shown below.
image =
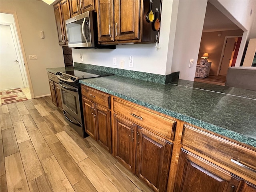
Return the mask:
{"type": "MultiPolygon", "coordinates": [[[[124,68],[154,74],[170,74],[170,69],[166,70],[170,20],[172,14],[172,0],[163,0],[161,15],[161,30],[158,49],[155,44],[134,44],[117,45],[115,50],[94,50],[94,49],[72,49],[73,61],[120,68],[120,61],[124,60],[124,68]],[[84,61],[80,59],[80,53],[83,54],[84,61]],[[129,56],[134,59],[134,68],[129,68],[129,56]],[[117,66],[113,65],[113,58],[117,58],[117,66]]],[[[169,65],[169,68],[171,66],[169,65]]]]}

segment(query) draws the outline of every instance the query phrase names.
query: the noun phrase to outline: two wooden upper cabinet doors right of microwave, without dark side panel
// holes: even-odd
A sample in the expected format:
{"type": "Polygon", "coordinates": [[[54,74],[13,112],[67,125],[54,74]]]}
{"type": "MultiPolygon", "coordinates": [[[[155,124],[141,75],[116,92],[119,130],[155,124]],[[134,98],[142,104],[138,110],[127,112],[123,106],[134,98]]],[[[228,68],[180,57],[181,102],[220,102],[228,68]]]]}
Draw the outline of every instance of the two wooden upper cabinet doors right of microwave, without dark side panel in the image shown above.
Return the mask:
{"type": "Polygon", "coordinates": [[[140,0],[96,0],[99,42],[139,39],[140,0]]]}

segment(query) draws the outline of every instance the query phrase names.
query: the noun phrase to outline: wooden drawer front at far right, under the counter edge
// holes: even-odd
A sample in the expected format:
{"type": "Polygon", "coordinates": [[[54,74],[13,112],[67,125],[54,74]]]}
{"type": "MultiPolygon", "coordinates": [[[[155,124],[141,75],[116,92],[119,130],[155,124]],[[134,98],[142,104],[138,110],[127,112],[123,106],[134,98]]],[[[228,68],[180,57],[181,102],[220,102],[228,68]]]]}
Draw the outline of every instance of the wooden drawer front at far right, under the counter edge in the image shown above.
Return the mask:
{"type": "Polygon", "coordinates": [[[186,124],[183,128],[181,143],[256,179],[256,152],[253,150],[186,124]]]}

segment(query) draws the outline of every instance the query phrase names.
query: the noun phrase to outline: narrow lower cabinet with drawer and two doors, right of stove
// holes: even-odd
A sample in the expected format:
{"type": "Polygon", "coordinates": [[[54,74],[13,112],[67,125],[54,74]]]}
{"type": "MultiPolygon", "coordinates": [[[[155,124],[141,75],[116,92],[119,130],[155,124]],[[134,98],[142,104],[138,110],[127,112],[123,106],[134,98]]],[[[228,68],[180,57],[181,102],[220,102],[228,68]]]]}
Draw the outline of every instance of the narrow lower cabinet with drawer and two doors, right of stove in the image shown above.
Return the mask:
{"type": "Polygon", "coordinates": [[[85,131],[112,153],[110,95],[82,85],[85,131]]]}

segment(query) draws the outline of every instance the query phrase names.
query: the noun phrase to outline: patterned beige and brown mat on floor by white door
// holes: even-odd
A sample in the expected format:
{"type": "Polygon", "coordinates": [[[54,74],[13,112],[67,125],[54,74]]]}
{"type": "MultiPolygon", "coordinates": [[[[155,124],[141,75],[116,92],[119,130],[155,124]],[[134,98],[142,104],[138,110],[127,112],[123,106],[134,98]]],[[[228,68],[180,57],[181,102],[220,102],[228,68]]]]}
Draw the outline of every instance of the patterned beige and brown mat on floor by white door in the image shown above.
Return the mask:
{"type": "Polygon", "coordinates": [[[0,94],[2,105],[28,100],[20,88],[3,90],[0,94]]]}

